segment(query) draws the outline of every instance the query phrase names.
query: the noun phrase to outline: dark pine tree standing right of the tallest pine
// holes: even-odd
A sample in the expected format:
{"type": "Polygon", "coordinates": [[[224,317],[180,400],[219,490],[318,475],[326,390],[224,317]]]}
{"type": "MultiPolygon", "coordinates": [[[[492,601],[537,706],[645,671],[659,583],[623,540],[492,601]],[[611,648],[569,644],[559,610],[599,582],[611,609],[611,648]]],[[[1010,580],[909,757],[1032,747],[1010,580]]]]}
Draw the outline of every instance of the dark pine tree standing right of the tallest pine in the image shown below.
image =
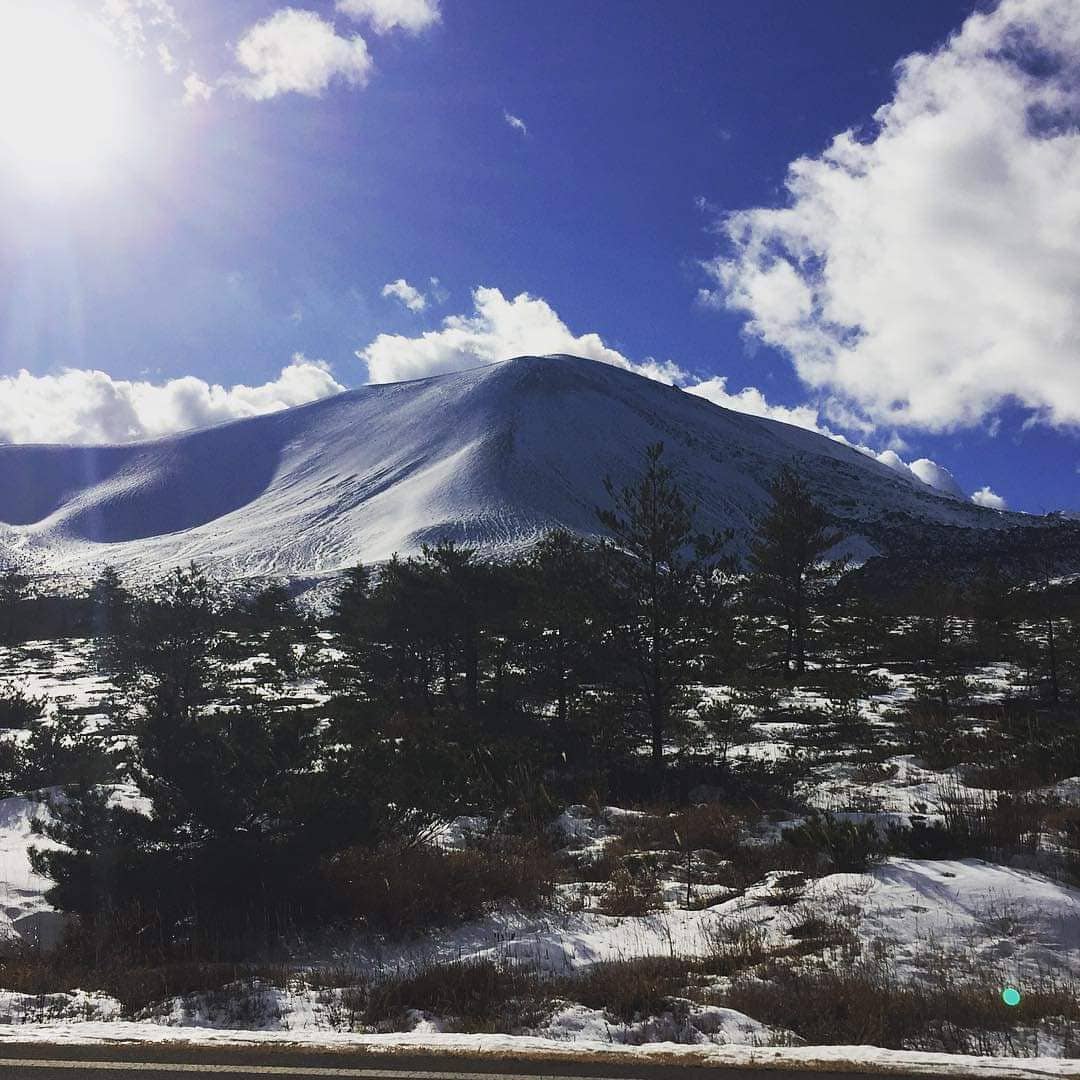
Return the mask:
{"type": "Polygon", "coordinates": [[[814,501],[802,474],[785,465],[769,487],[772,505],[751,548],[755,592],[783,621],[784,671],[806,671],[807,634],[825,584],[843,567],[825,556],[841,540],[814,501]]]}

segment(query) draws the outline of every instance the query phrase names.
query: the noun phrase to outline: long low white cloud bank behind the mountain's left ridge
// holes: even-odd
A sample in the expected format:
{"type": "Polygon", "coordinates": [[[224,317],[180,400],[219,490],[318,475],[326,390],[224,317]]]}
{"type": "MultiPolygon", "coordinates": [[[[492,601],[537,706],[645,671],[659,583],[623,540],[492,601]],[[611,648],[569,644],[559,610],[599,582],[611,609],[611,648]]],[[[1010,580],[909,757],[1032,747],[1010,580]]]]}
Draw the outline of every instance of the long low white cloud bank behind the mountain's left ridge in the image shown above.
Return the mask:
{"type": "Polygon", "coordinates": [[[302,353],[257,387],[221,387],[191,376],[153,383],[96,370],[22,370],[0,377],[0,442],[127,443],[274,413],[343,389],[326,364],[302,353]]]}

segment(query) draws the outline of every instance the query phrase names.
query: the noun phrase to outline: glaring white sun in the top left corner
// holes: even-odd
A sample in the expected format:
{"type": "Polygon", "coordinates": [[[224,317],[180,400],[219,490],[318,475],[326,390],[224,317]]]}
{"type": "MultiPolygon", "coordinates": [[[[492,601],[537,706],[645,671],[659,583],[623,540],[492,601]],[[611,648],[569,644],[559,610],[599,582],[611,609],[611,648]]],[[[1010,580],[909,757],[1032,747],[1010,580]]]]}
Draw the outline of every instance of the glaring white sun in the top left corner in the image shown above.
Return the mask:
{"type": "Polygon", "coordinates": [[[125,102],[108,37],[40,0],[0,0],[0,167],[41,188],[100,179],[123,148],[125,102]]]}

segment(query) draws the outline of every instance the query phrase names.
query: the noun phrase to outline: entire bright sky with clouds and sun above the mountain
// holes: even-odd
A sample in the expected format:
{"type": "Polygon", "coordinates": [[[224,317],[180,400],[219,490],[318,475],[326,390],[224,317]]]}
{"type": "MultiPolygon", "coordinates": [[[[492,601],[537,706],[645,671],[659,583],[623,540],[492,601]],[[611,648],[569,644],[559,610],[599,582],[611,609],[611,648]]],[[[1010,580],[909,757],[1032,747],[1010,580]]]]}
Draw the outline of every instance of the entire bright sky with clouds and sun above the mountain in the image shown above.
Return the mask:
{"type": "Polygon", "coordinates": [[[0,0],[26,80],[0,82],[0,436],[156,434],[564,335],[1077,507],[1076,210],[1030,208],[1080,183],[1069,8],[0,0]],[[28,149],[12,125],[57,93],[28,149]]]}

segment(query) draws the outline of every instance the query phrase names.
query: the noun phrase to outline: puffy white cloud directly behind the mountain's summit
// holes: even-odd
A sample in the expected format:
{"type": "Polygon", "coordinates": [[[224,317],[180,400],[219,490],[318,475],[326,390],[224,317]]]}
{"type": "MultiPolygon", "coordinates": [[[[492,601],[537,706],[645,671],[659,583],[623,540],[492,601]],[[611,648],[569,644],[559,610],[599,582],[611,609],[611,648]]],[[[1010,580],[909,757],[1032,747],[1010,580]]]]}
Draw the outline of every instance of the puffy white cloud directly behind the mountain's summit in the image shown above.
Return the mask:
{"type": "Polygon", "coordinates": [[[663,382],[681,377],[670,362],[634,363],[605,345],[598,334],[577,335],[555,310],[528,293],[509,299],[498,288],[473,291],[473,312],[448,315],[436,330],[418,337],[380,334],[356,355],[372,382],[397,382],[464,367],[494,364],[511,356],[573,353],[624,367],[663,382]]]}

